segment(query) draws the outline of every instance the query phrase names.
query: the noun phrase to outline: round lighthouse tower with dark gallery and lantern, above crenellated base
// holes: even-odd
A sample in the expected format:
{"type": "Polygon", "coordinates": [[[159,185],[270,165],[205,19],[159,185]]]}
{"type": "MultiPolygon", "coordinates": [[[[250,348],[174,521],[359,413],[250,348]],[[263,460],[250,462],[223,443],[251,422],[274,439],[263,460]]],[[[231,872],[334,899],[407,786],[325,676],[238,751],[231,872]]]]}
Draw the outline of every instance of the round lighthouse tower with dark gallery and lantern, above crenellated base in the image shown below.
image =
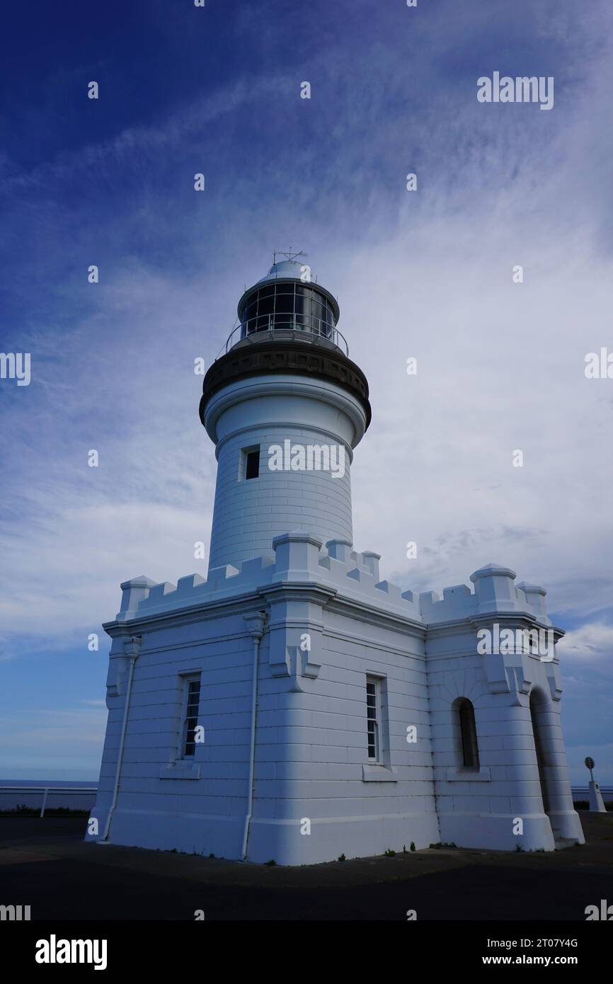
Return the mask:
{"type": "Polygon", "coordinates": [[[295,527],[351,543],[350,464],[371,418],[337,301],[308,268],[274,264],[238,318],[200,403],[217,458],[211,569],[265,554],[295,527]]]}

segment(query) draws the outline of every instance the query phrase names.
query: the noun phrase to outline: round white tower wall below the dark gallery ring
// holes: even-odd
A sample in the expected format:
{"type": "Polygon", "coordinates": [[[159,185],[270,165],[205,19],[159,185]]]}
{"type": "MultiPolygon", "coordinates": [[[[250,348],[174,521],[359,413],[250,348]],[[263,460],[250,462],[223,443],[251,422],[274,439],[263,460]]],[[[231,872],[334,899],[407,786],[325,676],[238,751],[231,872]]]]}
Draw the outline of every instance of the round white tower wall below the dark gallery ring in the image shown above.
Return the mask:
{"type": "Polygon", "coordinates": [[[323,379],[258,376],[216,393],[204,422],[217,457],[210,570],[239,567],[271,553],[274,538],[297,527],[308,528],[324,543],[352,542],[350,463],[366,417],[350,393],[323,379]],[[293,452],[294,468],[270,466],[281,463],[271,459],[275,446],[283,451],[283,465],[291,465],[293,452]],[[298,447],[305,450],[304,468],[295,467],[302,463],[296,458],[298,447]],[[309,447],[314,448],[312,461],[309,447]],[[245,456],[255,448],[259,474],[247,478],[245,456]],[[318,462],[327,463],[327,454],[330,468],[318,469],[318,462]]]}

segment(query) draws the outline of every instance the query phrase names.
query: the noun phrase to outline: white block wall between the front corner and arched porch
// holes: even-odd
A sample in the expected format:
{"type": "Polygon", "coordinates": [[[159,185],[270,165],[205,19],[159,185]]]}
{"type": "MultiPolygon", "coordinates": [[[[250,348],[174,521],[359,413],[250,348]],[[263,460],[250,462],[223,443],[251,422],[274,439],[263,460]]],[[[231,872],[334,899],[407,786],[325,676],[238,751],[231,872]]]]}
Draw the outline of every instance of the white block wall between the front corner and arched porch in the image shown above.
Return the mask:
{"type": "MultiPolygon", "coordinates": [[[[258,784],[250,858],[265,860],[273,845],[278,863],[308,864],[340,854],[400,851],[403,845],[408,850],[411,840],[418,848],[438,842],[422,642],[334,616],[326,622],[321,659],[317,679],[305,682],[303,692],[277,695],[285,723],[276,729],[276,751],[267,754],[276,757],[283,781],[269,783],[278,797],[275,818],[270,809],[261,814],[258,784]],[[367,674],[387,683],[385,767],[368,759],[367,674]],[[418,729],[416,745],[406,741],[410,724],[418,729]],[[366,780],[364,769],[370,772],[366,780]],[[373,775],[377,770],[379,776],[373,775]],[[301,833],[304,819],[311,822],[310,834],[301,833]]],[[[263,682],[263,693],[278,690],[282,681],[263,682]]],[[[264,718],[274,725],[274,713],[264,718]]]]}

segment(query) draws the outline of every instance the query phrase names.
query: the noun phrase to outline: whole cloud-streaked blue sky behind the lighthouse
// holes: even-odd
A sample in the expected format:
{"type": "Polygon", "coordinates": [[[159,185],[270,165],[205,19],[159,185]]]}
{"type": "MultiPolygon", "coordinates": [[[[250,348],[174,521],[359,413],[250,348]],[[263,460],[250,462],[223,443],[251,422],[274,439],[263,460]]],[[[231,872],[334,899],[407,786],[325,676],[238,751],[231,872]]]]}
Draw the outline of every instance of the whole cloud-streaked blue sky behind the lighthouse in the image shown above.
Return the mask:
{"type": "Polygon", "coordinates": [[[613,782],[613,380],[583,373],[613,348],[612,21],[600,0],[5,13],[1,347],[31,352],[31,385],[0,383],[0,777],[96,778],[108,645],[88,635],[121,581],[199,567],[215,455],[193,361],[292,246],[371,385],[356,547],[413,590],[489,561],[547,587],[573,780],[591,754],[613,782]],[[494,71],[553,76],[554,108],[478,103],[494,71]]]}

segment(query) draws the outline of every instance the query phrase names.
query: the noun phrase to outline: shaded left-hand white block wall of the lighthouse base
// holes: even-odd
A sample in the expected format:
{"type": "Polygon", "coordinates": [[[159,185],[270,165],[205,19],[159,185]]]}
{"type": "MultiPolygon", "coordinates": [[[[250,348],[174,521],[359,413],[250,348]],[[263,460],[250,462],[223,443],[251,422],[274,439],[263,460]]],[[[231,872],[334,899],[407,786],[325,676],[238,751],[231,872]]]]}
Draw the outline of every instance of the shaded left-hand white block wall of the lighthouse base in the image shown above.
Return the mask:
{"type": "MultiPolygon", "coordinates": [[[[246,812],[253,646],[239,614],[146,633],[137,659],[111,842],[238,857],[246,812]],[[180,756],[181,677],[202,673],[197,773],[180,756]],[[161,774],[163,773],[163,777],[161,774]]],[[[125,690],[109,725],[92,816],[103,829],[115,776],[125,690]]],[[[266,745],[267,736],[262,736],[266,745]]]]}

